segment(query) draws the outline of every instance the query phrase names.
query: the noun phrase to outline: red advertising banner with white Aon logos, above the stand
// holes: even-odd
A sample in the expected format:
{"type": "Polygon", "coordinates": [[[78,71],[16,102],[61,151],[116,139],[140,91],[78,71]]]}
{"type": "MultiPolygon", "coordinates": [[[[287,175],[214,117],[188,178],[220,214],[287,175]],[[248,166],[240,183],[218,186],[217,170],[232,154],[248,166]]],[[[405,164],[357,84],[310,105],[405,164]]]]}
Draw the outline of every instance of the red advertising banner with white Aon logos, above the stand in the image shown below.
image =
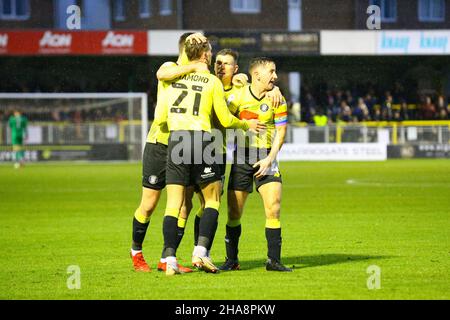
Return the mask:
{"type": "Polygon", "coordinates": [[[147,31],[0,30],[0,55],[147,54],[147,31]]]}

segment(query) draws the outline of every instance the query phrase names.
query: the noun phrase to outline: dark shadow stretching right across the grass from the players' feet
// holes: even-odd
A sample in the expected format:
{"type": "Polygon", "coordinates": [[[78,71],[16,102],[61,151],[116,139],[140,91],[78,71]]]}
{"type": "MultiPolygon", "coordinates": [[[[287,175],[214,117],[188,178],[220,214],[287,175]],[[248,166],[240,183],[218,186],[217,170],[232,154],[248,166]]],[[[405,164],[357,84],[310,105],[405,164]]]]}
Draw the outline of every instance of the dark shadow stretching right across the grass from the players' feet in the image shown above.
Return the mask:
{"type": "MultiPolygon", "coordinates": [[[[369,256],[369,255],[357,255],[357,254],[318,254],[311,256],[298,256],[298,257],[282,257],[281,262],[287,267],[294,267],[295,269],[311,268],[318,266],[326,266],[331,264],[349,263],[355,261],[364,260],[378,260],[389,259],[392,256],[369,256]]],[[[265,261],[262,260],[243,260],[240,261],[242,270],[256,269],[264,267],[265,261]]]]}

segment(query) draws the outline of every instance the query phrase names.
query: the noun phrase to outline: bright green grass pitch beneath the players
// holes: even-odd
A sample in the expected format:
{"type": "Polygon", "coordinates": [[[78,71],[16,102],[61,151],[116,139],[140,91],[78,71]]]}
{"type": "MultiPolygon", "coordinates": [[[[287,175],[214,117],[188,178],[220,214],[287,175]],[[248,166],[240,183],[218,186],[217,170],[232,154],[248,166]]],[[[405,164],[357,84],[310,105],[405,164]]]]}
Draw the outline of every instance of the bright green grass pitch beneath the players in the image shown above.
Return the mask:
{"type": "MultiPolygon", "coordinates": [[[[0,299],[449,299],[450,161],[281,163],[283,262],[264,269],[264,211],[253,193],[242,218],[241,271],[166,277],[165,192],[144,242],[153,272],[132,270],[140,164],[0,166],[0,299]],[[81,288],[68,289],[79,266],[81,288]],[[381,270],[369,289],[369,266],[381,270]]],[[[198,202],[195,201],[195,209],[198,202]]],[[[190,262],[191,217],[178,256],[190,262]]],[[[226,202],[212,250],[225,256],[226,202]]],[[[370,281],[369,281],[370,282],[370,281]]]]}

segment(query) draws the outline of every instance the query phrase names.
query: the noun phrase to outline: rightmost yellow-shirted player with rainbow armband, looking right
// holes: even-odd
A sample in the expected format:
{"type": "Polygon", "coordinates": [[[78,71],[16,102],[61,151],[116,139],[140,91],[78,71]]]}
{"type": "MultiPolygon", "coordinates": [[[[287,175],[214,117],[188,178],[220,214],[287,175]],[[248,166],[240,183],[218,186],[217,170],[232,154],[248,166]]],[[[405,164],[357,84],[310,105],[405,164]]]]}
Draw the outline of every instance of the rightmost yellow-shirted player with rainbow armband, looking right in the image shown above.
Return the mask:
{"type": "Polygon", "coordinates": [[[225,246],[227,258],[220,270],[239,269],[238,244],[242,212],[253,182],[261,195],[266,216],[268,259],[266,270],[292,271],[281,263],[281,174],[277,154],[284,143],[287,128],[287,105],[284,100],[274,107],[266,97],[277,80],[276,66],[269,58],[250,61],[251,84],[231,103],[241,119],[258,119],[267,126],[262,135],[237,137],[237,149],[228,183],[228,222],[225,246]]]}

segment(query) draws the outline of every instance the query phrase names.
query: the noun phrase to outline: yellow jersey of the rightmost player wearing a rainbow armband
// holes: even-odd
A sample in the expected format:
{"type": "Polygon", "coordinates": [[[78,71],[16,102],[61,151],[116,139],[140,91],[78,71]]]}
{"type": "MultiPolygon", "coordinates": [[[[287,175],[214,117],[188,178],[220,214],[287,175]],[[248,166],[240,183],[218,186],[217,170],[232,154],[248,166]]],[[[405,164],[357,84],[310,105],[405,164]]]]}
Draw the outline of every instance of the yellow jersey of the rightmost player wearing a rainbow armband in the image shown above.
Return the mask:
{"type": "MultiPolygon", "coordinates": [[[[237,95],[237,99],[231,102],[230,109],[237,109],[240,119],[258,119],[265,124],[267,129],[262,134],[249,132],[248,139],[238,136],[239,147],[271,148],[276,127],[287,125],[287,104],[283,97],[283,102],[278,108],[272,106],[271,101],[263,97],[258,99],[251,90],[250,85],[244,86],[242,92],[237,95]]],[[[238,133],[242,134],[242,133],[238,133]]]]}

